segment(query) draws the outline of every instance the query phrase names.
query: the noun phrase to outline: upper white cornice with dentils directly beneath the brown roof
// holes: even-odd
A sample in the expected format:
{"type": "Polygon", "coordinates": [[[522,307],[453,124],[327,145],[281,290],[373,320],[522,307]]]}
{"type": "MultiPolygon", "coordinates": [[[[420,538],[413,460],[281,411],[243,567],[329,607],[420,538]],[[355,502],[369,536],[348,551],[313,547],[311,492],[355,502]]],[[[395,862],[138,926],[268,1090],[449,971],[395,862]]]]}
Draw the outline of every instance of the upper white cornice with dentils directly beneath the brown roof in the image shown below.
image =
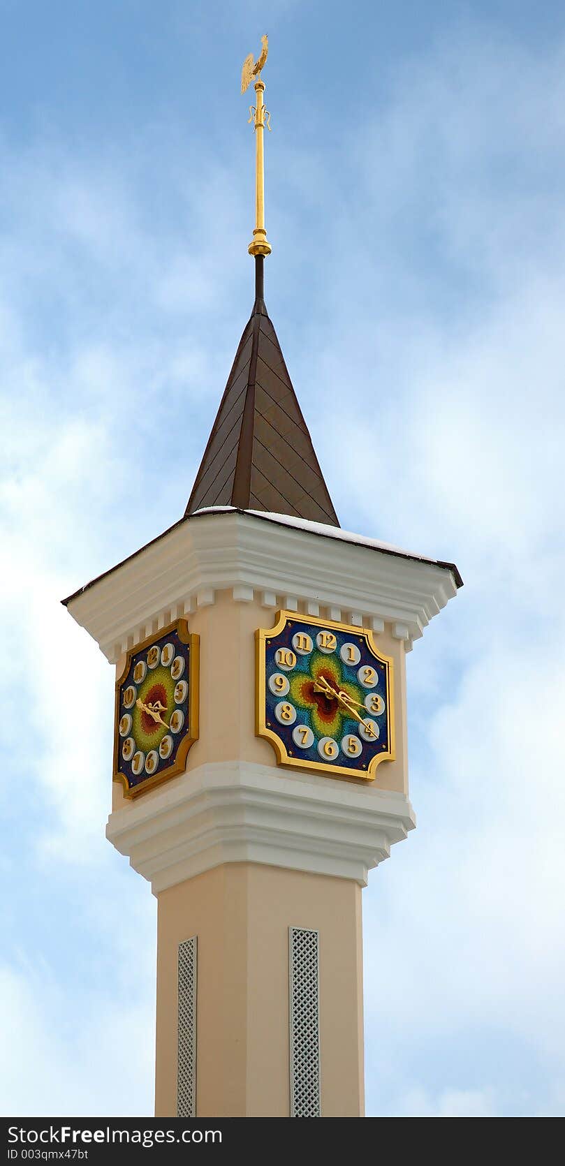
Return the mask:
{"type": "MultiPolygon", "coordinates": [[[[446,566],[391,554],[320,531],[267,522],[238,511],[201,513],[172,527],[68,600],[104,655],[114,661],[159,626],[231,590],[272,606],[341,610],[344,618],[386,620],[406,649],[448,599],[446,566]]],[[[332,617],[334,618],[334,617],[332,617]]]]}

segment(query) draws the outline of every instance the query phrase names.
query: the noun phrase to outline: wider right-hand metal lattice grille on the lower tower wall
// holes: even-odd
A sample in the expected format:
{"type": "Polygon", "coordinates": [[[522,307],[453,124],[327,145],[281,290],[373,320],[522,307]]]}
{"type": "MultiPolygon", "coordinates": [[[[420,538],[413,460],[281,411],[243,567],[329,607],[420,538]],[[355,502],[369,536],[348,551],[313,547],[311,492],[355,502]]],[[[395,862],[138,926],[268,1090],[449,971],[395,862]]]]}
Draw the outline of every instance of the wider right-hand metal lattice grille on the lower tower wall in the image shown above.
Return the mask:
{"type": "Polygon", "coordinates": [[[291,1117],[321,1117],[318,932],[290,927],[291,1117]]]}

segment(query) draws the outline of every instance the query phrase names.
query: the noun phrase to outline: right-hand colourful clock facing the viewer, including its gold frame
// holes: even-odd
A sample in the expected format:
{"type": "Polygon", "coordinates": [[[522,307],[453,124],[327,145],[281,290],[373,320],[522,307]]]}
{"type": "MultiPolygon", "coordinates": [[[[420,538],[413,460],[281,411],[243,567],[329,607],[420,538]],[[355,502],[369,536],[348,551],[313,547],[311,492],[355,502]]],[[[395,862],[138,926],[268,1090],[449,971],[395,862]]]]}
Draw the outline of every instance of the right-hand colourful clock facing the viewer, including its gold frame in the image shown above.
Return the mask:
{"type": "Polygon", "coordinates": [[[256,731],[280,765],[371,780],[393,760],[392,660],[370,631],[281,611],[256,637],[256,731]]]}

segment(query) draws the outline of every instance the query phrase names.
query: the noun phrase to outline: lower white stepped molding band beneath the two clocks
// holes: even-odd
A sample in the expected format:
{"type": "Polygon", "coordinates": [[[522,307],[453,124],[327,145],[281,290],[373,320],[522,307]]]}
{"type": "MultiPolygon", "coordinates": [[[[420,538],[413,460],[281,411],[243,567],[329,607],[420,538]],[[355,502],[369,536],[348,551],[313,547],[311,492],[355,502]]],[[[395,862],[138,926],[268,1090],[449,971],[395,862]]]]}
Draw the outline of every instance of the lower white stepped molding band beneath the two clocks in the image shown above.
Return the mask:
{"type": "Polygon", "coordinates": [[[367,885],[416,826],[399,793],[249,761],[201,765],[114,810],[106,837],[154,894],[222,863],[263,863],[367,885]]]}

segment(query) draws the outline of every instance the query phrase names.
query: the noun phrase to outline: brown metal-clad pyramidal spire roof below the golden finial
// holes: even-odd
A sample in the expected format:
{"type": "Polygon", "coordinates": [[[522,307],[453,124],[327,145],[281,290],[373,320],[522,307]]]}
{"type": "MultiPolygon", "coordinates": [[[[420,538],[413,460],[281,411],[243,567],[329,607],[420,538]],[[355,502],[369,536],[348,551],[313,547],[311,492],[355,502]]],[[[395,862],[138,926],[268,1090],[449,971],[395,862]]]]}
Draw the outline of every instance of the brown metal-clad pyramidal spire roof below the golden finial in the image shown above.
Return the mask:
{"type": "Polygon", "coordinates": [[[263,255],[254,261],[253,311],[186,514],[203,506],[237,506],[339,526],[263,298],[263,255]]]}

